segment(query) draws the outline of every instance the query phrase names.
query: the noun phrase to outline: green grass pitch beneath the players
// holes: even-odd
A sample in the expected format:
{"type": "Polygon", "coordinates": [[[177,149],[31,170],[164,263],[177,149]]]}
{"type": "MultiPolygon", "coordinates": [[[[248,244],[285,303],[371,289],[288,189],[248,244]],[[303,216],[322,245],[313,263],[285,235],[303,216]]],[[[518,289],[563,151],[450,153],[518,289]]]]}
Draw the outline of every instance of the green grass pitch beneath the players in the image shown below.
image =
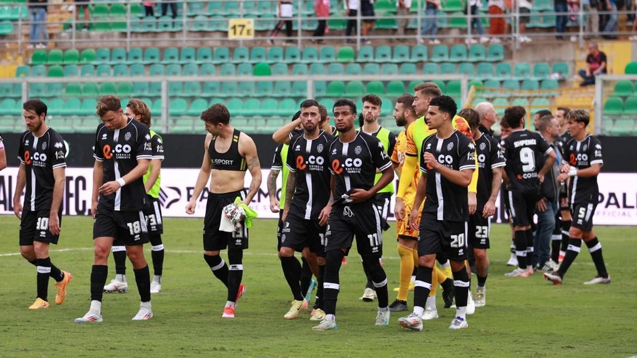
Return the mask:
{"type": "MultiPolygon", "coordinates": [[[[92,265],[92,220],[64,217],[60,245],[50,257],[73,273],[63,305],[31,312],[36,293],[35,268],[18,252],[18,219],[0,216],[0,355],[39,357],[236,357],[331,356],[397,357],[406,355],[470,357],[626,357],[637,354],[635,229],[599,227],[610,285],[584,286],[595,275],[589,253],[582,252],[563,286],[552,286],[536,273],[529,279],[505,279],[509,257],[508,226],[492,226],[487,306],[469,316],[469,329],[447,329],[454,310],[442,309],[440,319],[427,321],[422,333],[405,331],[393,313],[390,325],[374,326],[375,303],[359,301],[364,286],[360,259],[350,256],[341,268],[338,330],[313,332],[313,322],[284,320],[291,300],[276,258],[276,222],[258,220],[245,252],[241,299],[236,319],[222,319],[225,287],[204,263],[201,219],[167,218],[163,291],[152,299],[155,317],[132,322],[139,296],[127,263],[131,284],[126,294],[104,294],[99,324],[76,324],[89,308],[92,265]]],[[[393,225],[392,225],[393,226],[393,225]]],[[[385,234],[385,270],[389,289],[397,286],[398,259],[392,230],[385,234]]],[[[150,247],[147,247],[150,260],[150,247]]],[[[225,255],[225,254],[224,254],[225,255]]],[[[114,265],[109,259],[109,277],[114,265]]],[[[475,281],[475,280],[474,280],[475,281]]],[[[49,297],[54,301],[54,281],[49,297]]],[[[475,289],[475,282],[473,283],[475,289]]],[[[390,301],[395,298],[390,291],[390,301]]],[[[410,293],[409,305],[412,306],[410,293]]]]}

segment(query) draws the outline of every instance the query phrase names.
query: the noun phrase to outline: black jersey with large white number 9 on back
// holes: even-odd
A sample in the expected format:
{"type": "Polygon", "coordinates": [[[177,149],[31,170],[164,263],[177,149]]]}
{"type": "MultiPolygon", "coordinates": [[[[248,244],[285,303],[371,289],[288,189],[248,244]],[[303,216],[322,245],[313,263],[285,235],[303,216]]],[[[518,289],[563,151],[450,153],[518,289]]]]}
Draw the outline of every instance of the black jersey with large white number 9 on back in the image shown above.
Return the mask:
{"type": "Polygon", "coordinates": [[[544,156],[553,151],[544,138],[528,130],[514,130],[502,141],[509,189],[520,193],[539,192],[540,172],[544,156]]]}

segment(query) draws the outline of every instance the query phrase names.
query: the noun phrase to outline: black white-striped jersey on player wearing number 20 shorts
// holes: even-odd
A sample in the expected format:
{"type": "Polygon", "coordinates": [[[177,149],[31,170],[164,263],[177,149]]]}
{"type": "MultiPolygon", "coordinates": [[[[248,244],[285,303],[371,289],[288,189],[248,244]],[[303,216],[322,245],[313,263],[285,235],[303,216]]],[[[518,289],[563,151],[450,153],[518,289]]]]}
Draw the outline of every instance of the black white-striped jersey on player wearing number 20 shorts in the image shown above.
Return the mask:
{"type": "Polygon", "coordinates": [[[445,139],[430,135],[422,142],[420,171],[427,175],[427,187],[422,216],[436,220],[466,221],[469,219],[468,188],[448,181],[440,172],[425,163],[424,154],[432,153],[438,163],[452,170],[475,170],[475,146],[466,135],[455,130],[445,139]]]}

